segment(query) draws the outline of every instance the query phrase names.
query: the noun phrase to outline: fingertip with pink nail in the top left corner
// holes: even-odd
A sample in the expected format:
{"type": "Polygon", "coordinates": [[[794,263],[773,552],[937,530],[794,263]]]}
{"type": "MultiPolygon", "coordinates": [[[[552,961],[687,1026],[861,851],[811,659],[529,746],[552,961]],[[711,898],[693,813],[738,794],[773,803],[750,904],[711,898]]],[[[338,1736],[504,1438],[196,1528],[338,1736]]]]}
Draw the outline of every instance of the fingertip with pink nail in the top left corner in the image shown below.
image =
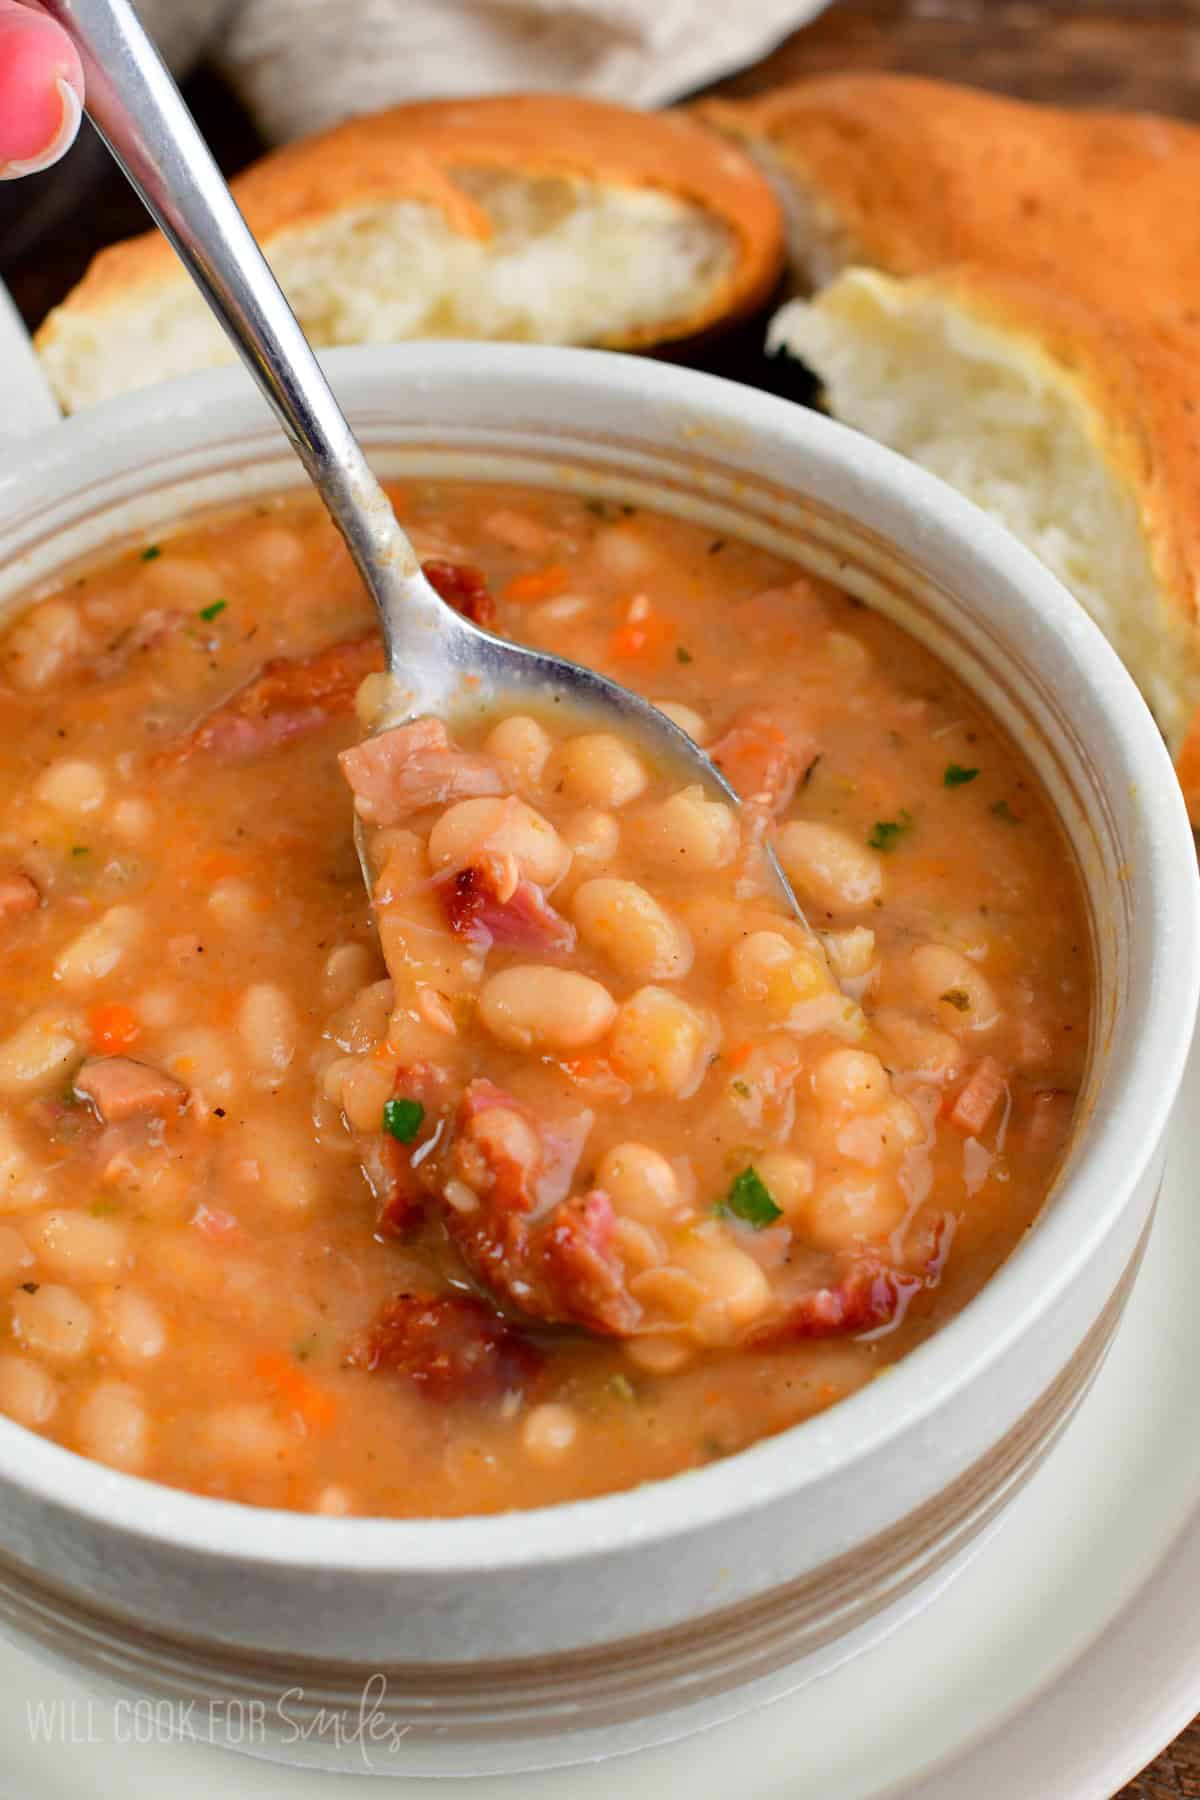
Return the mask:
{"type": "Polygon", "coordinates": [[[83,115],[83,67],[67,32],[0,0],[0,180],[36,175],[70,149],[83,115]]]}

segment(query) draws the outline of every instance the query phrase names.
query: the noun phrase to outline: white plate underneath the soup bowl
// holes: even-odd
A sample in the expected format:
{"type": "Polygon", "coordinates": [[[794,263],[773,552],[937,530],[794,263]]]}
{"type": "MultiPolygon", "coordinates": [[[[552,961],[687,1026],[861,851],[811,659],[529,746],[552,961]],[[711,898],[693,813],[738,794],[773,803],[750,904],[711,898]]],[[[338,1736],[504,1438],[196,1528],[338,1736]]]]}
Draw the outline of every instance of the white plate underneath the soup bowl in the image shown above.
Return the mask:
{"type": "MultiPolygon", "coordinates": [[[[473,1784],[488,1800],[1106,1800],[1200,1710],[1200,1049],[1096,1388],[979,1555],[891,1638],[682,1744],[473,1784]]],[[[331,1800],[351,1777],[171,1735],[0,1645],[20,1800],[331,1800]]],[[[198,1708],[193,1730],[203,1735],[198,1708]]],[[[363,1744],[387,1769],[387,1744],[363,1744]]],[[[389,1793],[432,1784],[398,1778],[389,1793]]]]}

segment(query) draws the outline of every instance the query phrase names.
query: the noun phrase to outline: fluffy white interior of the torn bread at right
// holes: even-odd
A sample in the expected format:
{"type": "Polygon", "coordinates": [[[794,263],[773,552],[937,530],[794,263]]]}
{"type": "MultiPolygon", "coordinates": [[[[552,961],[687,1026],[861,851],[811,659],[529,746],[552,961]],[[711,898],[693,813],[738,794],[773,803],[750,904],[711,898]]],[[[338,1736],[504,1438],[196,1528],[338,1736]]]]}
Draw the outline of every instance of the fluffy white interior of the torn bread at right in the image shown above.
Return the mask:
{"type": "Polygon", "coordinates": [[[1101,626],[1173,751],[1200,693],[1141,527],[1105,455],[1105,421],[1076,374],[1024,331],[977,317],[936,283],[851,268],[770,326],[835,418],[941,475],[1000,518],[1101,626]]]}

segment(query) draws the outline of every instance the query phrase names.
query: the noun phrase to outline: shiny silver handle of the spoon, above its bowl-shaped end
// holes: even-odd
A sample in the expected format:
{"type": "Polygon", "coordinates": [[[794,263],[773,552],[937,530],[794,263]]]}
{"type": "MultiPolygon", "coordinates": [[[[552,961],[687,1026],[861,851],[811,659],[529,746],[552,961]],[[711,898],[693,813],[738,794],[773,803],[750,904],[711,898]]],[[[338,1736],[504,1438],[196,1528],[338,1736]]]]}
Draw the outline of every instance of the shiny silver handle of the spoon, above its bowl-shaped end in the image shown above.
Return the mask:
{"type": "MultiPolygon", "coordinates": [[[[40,4],[79,50],[92,122],[263,389],[367,587],[376,590],[380,569],[401,581],[417,574],[412,544],[137,13],[128,0],[40,4]]],[[[421,590],[414,581],[405,601],[421,605],[421,590]]]]}

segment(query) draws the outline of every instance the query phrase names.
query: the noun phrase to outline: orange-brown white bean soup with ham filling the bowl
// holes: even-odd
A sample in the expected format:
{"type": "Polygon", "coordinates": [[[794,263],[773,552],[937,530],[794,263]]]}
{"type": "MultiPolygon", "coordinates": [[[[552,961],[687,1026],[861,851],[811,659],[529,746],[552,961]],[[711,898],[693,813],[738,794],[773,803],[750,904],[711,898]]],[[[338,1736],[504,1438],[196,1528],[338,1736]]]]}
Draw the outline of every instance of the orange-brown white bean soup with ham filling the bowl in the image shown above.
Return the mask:
{"type": "Polygon", "coordinates": [[[552,707],[363,736],[308,497],[40,596],[0,639],[0,1409],[200,1494],[497,1512],[727,1456],[966,1305],[1063,1156],[1088,931],[1020,751],[847,594],[610,500],[394,499],[448,605],[653,698],[743,805],[552,707]]]}

